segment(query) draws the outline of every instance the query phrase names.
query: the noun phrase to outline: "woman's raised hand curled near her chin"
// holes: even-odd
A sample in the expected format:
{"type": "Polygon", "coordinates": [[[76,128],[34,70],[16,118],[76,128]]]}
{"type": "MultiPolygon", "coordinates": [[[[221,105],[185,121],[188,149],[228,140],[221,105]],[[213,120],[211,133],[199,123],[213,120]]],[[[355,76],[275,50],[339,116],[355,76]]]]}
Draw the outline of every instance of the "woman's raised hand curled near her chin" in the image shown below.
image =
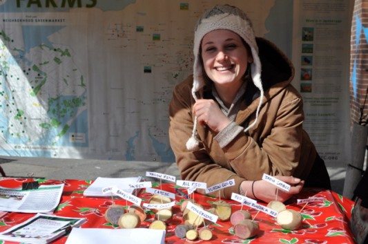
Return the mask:
{"type": "Polygon", "coordinates": [[[231,123],[213,100],[200,99],[193,105],[193,113],[202,125],[207,125],[215,132],[220,132],[231,123]]]}

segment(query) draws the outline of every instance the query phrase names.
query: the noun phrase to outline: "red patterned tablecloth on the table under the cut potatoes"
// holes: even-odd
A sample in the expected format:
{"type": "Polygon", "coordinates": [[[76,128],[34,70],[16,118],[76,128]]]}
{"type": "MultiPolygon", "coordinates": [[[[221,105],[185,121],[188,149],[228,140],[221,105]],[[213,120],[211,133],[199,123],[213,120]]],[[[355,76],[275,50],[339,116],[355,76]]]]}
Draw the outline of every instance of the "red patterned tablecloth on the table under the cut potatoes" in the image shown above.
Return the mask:
{"type": "MultiPolygon", "coordinates": [[[[23,182],[28,182],[31,179],[24,178],[1,178],[1,187],[19,187],[23,182]]],[[[64,191],[61,196],[61,201],[55,214],[59,216],[70,217],[85,217],[87,222],[81,227],[98,227],[98,228],[116,228],[108,223],[104,218],[104,213],[110,205],[113,204],[111,198],[95,198],[84,197],[83,191],[90,185],[91,180],[44,180],[35,179],[41,185],[52,185],[64,183],[64,191]]],[[[159,185],[159,182],[154,182],[153,187],[157,189],[163,189],[165,191],[177,192],[177,189],[181,189],[184,192],[184,188],[178,187],[175,184],[163,183],[159,185]]],[[[142,203],[148,201],[148,198],[152,194],[142,190],[138,195],[142,198],[142,203]]],[[[204,209],[209,209],[211,203],[218,200],[215,196],[202,196],[200,194],[194,194],[195,201],[200,203],[204,209]]],[[[173,218],[168,223],[166,229],[166,243],[167,244],[182,244],[182,243],[290,243],[290,244],[311,244],[311,243],[354,243],[354,238],[349,229],[349,220],[351,218],[351,209],[354,207],[354,202],[348,198],[344,198],[334,191],[323,191],[321,189],[303,189],[303,191],[297,196],[293,196],[287,201],[288,209],[295,209],[300,211],[302,209],[303,224],[298,230],[289,231],[282,229],[275,219],[271,216],[260,212],[257,214],[255,209],[243,206],[243,209],[249,210],[255,220],[260,225],[261,234],[255,238],[242,240],[233,235],[233,227],[229,221],[213,223],[209,225],[213,232],[213,239],[211,241],[188,241],[185,238],[177,238],[174,234],[175,226],[182,223],[182,213],[180,212],[180,204],[184,200],[184,196],[177,194],[177,204],[173,207],[173,218]],[[309,203],[304,208],[304,205],[297,205],[296,200],[298,198],[308,197],[325,198],[323,202],[309,203]]],[[[126,200],[115,199],[115,204],[126,205],[126,200]]],[[[226,200],[231,203],[233,212],[241,208],[240,203],[236,203],[233,200],[226,200]]],[[[130,205],[130,203],[128,203],[130,205]]],[[[3,218],[0,218],[0,232],[17,225],[24,220],[30,218],[33,214],[23,213],[8,213],[3,218]]],[[[149,214],[148,218],[140,227],[148,227],[154,219],[153,214],[149,214]]],[[[65,243],[66,236],[61,237],[54,241],[54,243],[65,243]]],[[[1,241],[0,241],[1,243],[1,241]]],[[[11,243],[11,242],[3,242],[11,243]]]]}

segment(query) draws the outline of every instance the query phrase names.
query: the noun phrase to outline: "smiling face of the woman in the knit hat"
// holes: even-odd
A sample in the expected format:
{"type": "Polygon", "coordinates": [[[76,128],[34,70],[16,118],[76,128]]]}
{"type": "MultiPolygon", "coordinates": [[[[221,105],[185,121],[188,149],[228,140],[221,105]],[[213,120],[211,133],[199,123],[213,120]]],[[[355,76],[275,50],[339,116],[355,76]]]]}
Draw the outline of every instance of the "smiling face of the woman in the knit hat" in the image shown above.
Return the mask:
{"type": "Polygon", "coordinates": [[[231,30],[213,30],[204,35],[201,48],[204,71],[215,86],[240,87],[248,63],[253,62],[241,37],[231,30]]]}

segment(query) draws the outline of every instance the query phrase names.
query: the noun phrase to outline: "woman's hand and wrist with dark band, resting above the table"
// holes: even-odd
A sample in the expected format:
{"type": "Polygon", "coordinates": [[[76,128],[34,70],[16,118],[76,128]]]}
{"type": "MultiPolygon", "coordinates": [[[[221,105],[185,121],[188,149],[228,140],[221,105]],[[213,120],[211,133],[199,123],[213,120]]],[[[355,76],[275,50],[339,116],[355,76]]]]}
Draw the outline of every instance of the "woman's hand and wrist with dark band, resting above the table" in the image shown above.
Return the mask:
{"type": "Polygon", "coordinates": [[[282,180],[283,182],[291,185],[289,192],[282,191],[278,189],[275,185],[267,182],[265,180],[256,180],[253,184],[253,193],[251,189],[251,184],[253,181],[244,180],[242,182],[242,187],[244,192],[247,192],[246,196],[251,198],[258,198],[266,203],[269,203],[271,200],[276,200],[276,192],[278,192],[277,200],[280,202],[284,202],[291,198],[294,194],[300,193],[303,188],[304,180],[300,180],[299,178],[295,178],[293,176],[274,176],[278,180],[282,180]],[[277,190],[278,189],[278,190],[277,190]]]}

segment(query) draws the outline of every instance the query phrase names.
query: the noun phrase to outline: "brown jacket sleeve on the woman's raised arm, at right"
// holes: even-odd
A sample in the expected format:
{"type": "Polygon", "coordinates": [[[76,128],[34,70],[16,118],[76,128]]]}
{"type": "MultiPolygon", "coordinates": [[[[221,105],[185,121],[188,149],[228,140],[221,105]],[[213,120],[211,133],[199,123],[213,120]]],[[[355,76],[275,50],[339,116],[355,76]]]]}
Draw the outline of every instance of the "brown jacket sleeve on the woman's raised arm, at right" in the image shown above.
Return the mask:
{"type": "Polygon", "coordinates": [[[266,130],[264,135],[252,137],[242,131],[223,148],[238,176],[248,180],[260,180],[263,173],[290,176],[300,165],[304,120],[302,100],[295,93],[289,93],[278,101],[280,104],[265,104],[267,112],[260,113],[258,128],[250,131],[252,135],[262,131],[263,127],[270,128],[269,133],[266,130]],[[255,141],[253,138],[258,136],[255,141]]]}

